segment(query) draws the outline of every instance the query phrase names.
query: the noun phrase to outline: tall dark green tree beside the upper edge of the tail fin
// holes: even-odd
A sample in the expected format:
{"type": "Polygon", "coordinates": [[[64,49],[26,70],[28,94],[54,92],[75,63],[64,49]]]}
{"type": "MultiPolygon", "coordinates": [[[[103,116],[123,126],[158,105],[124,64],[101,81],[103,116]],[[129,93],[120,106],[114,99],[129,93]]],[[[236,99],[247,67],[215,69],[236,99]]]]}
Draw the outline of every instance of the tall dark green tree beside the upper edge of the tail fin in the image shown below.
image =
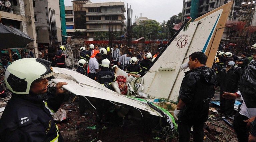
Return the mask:
{"type": "Polygon", "coordinates": [[[181,19],[182,19],[182,13],[180,12],[178,15],[174,15],[172,16],[166,23],[166,26],[169,30],[169,36],[172,37],[176,32],[177,30],[174,30],[174,26],[175,24],[178,24],[181,22],[181,19]]]}

